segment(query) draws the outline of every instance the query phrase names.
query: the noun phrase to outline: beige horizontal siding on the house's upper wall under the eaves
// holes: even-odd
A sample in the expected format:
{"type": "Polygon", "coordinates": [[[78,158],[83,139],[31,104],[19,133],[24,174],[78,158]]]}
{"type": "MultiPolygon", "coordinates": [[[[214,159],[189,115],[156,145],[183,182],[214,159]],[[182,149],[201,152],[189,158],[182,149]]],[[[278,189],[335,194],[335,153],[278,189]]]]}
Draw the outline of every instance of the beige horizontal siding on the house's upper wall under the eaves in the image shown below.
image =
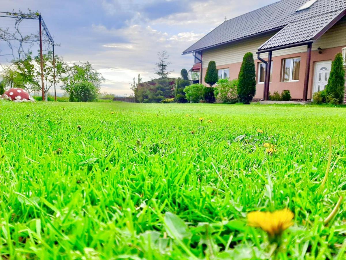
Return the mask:
{"type": "MultiPolygon", "coordinates": [[[[209,61],[213,60],[217,66],[242,62],[246,52],[252,52],[256,59],[256,51],[265,41],[272,37],[274,33],[265,36],[257,36],[248,40],[229,44],[203,52],[203,68],[208,67],[209,61]]],[[[345,46],[346,45],[346,17],[331,27],[324,35],[312,45],[312,50],[318,47],[322,49],[345,46]]],[[[273,52],[273,57],[302,53],[307,51],[307,46],[299,46],[273,52]]],[[[267,58],[267,54],[261,54],[261,58],[267,58]]]]}

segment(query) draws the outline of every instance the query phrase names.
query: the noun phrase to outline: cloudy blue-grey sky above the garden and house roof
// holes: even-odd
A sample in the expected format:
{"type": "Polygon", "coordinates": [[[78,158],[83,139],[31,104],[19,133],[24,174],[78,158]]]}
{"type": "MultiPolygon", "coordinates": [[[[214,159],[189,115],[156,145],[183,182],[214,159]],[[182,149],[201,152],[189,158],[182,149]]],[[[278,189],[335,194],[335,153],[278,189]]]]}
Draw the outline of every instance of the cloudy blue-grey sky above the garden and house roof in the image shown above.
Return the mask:
{"type": "MultiPolygon", "coordinates": [[[[171,76],[190,69],[181,53],[227,19],[277,0],[0,0],[0,11],[39,10],[67,62],[90,61],[106,81],[101,91],[129,95],[139,73],[154,75],[157,52],[170,55],[171,76]]],[[[8,19],[8,18],[4,18],[8,19]]],[[[0,19],[0,26],[9,22],[0,19]]],[[[259,21],[260,22],[260,21],[259,21]]],[[[28,25],[26,30],[33,29],[28,25]]],[[[61,90],[58,90],[61,92],[61,90]]]]}

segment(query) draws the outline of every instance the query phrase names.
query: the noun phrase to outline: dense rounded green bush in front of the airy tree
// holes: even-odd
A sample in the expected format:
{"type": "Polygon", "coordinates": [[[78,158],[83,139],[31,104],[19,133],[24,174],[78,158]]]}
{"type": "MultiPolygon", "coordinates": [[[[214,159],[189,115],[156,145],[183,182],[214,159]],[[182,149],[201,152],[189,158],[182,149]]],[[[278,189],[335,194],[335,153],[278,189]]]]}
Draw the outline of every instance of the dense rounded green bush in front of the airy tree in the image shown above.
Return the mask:
{"type": "Polygon", "coordinates": [[[95,102],[97,101],[98,89],[90,82],[82,82],[72,86],[70,92],[71,102],[95,102]]]}

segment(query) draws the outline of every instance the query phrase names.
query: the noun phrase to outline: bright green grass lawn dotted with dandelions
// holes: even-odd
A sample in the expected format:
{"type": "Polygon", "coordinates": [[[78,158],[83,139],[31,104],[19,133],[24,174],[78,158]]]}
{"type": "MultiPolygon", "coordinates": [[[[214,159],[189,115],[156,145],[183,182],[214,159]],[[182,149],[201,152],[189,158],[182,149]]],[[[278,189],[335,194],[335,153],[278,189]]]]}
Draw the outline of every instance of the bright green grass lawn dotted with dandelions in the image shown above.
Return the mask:
{"type": "Polygon", "coordinates": [[[345,258],[345,203],[323,223],[346,190],[345,108],[0,101],[0,111],[3,259],[345,258]],[[294,225],[275,250],[246,216],[284,208],[294,225]]]}

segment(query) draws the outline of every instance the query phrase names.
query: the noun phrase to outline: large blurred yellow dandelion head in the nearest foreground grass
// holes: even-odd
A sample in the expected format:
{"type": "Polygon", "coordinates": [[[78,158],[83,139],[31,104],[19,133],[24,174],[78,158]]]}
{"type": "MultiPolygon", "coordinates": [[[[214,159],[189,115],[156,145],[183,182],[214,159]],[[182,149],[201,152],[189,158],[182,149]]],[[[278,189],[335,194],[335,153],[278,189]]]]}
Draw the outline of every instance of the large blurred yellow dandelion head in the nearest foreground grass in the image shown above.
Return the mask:
{"type": "Polygon", "coordinates": [[[272,212],[253,211],[247,214],[248,225],[260,227],[271,237],[280,236],[293,225],[294,215],[291,210],[283,209],[272,212]]]}

